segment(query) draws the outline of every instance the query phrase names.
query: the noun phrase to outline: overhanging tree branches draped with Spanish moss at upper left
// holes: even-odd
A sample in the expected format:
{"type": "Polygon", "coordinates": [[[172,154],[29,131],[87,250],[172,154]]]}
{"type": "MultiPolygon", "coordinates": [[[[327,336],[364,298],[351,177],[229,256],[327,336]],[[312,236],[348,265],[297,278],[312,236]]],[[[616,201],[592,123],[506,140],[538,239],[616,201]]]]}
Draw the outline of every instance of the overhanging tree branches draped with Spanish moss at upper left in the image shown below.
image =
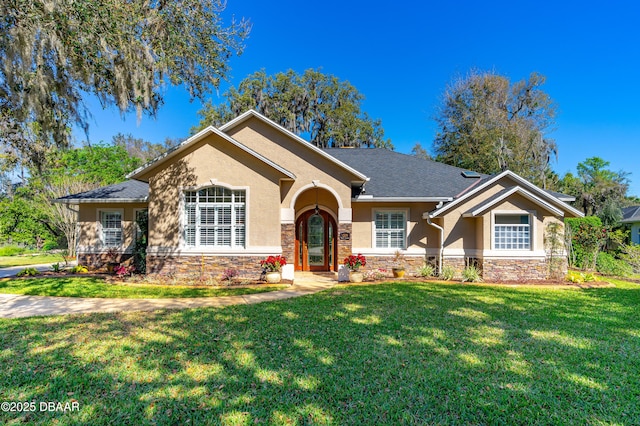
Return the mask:
{"type": "Polygon", "coordinates": [[[87,94],[154,115],[163,87],[203,99],[241,53],[248,22],[223,26],[222,0],[10,0],[0,3],[0,143],[38,168],[70,127],[88,127],[87,94]]]}

